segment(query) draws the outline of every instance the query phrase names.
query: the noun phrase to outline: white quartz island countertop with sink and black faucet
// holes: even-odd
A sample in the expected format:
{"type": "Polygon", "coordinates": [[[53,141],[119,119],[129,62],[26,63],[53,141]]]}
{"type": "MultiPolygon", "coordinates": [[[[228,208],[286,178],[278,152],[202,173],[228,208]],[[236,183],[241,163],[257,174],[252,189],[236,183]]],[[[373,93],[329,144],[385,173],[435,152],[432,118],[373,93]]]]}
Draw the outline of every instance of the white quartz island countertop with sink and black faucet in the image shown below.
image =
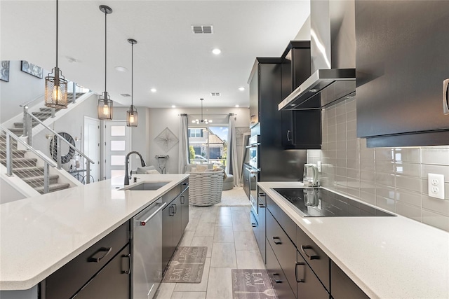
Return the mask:
{"type": "Polygon", "coordinates": [[[117,190],[122,176],[0,204],[0,290],[38,284],[188,176],[139,174],[169,183],[135,191],[117,190]]]}

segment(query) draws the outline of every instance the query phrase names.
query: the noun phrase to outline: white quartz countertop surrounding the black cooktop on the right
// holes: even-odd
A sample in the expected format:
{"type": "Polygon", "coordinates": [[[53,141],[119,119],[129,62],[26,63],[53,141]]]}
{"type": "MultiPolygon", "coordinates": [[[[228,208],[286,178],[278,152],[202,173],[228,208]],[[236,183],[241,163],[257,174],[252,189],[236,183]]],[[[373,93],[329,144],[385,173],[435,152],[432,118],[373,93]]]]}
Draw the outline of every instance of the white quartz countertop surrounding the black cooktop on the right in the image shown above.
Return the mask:
{"type": "Polygon", "coordinates": [[[449,232],[403,216],[302,217],[272,190],[302,183],[259,186],[370,298],[449,298],[449,232]]]}

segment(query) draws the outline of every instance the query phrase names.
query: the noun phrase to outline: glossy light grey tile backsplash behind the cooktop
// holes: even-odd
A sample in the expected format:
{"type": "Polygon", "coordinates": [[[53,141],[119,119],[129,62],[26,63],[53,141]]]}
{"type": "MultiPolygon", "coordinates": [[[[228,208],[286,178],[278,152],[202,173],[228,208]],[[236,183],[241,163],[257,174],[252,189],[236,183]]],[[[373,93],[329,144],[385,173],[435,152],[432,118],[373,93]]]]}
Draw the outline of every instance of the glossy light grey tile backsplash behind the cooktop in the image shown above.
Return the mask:
{"type": "MultiPolygon", "coordinates": [[[[449,146],[367,148],[356,137],[356,98],[322,111],[321,185],[449,231],[449,146]],[[445,200],[427,196],[427,174],[445,176],[445,200]]],[[[449,141],[448,141],[449,142],[449,141]]]]}

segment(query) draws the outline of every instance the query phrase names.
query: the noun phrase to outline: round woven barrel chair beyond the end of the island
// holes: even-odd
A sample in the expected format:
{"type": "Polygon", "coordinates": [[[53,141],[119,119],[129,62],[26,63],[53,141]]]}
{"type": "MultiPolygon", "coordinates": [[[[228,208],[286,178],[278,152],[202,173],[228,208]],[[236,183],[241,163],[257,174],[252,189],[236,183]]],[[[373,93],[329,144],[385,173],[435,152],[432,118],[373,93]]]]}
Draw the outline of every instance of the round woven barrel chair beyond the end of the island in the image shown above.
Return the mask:
{"type": "Polygon", "coordinates": [[[189,176],[189,204],[211,206],[222,201],[225,172],[187,172],[189,176]]]}

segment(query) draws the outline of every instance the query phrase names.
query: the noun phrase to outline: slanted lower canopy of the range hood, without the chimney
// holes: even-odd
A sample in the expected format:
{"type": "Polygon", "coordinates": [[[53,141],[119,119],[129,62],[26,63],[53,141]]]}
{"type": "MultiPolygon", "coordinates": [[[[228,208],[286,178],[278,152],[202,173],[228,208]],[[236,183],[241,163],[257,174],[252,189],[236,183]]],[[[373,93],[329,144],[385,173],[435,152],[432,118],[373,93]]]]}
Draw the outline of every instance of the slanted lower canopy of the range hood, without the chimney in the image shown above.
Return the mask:
{"type": "Polygon", "coordinates": [[[319,109],[355,93],[356,69],[319,69],[279,103],[278,109],[319,109]]]}

